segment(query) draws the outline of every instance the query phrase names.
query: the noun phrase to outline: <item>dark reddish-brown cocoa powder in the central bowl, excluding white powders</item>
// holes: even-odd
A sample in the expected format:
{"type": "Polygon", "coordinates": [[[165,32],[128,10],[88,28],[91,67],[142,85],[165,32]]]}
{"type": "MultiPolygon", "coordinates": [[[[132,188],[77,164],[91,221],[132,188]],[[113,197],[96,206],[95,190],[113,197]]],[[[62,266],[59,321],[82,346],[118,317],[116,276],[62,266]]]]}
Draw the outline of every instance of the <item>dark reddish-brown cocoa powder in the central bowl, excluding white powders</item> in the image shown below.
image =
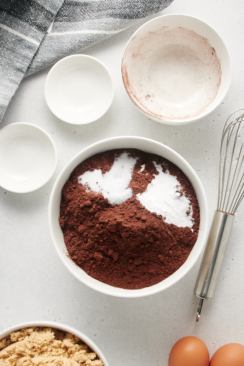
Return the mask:
{"type": "Polygon", "coordinates": [[[165,158],[137,149],[126,149],[138,160],[129,183],[133,195],[125,202],[111,205],[102,193],[87,191],[78,182],[78,176],[88,170],[109,171],[115,157],[124,151],[96,154],[74,169],[62,189],[59,220],[68,254],[76,265],[103,283],[133,290],[157,284],[184,264],[198,237],[200,216],[194,188],[184,173],[165,158]],[[158,174],[153,161],[177,176],[182,194],[192,205],[192,229],[166,223],[136,197],[158,174]],[[145,168],[137,174],[142,164],[145,168]]]}

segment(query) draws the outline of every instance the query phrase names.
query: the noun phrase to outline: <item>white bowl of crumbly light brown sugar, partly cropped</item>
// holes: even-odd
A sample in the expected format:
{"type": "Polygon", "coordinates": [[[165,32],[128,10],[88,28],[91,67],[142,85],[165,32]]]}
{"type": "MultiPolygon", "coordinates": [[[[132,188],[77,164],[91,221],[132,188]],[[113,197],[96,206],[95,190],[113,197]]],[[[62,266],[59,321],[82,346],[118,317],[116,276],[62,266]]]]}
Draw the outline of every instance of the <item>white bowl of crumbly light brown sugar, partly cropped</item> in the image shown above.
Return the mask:
{"type": "Polygon", "coordinates": [[[108,366],[85,334],[56,321],[29,321],[0,332],[1,365],[108,366]]]}

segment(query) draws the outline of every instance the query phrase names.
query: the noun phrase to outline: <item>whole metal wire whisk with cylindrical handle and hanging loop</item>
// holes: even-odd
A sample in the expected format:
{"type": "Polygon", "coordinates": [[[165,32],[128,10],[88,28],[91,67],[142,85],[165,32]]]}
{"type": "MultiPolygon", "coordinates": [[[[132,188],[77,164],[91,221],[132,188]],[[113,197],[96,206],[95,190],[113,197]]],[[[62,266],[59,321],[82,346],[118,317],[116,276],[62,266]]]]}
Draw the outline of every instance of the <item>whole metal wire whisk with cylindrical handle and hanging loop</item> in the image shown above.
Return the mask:
{"type": "Polygon", "coordinates": [[[218,282],[234,214],[244,196],[244,109],[227,119],[221,141],[218,203],[203,253],[194,295],[200,298],[196,321],[203,300],[212,299],[218,282]]]}

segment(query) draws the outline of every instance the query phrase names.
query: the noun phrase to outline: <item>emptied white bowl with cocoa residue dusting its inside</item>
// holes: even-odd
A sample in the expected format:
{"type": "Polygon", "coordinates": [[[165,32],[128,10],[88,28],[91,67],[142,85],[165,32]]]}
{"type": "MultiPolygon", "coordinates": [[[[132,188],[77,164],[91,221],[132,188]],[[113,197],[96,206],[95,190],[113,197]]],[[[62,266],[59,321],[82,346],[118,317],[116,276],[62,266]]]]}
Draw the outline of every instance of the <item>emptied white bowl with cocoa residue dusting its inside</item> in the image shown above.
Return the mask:
{"type": "Polygon", "coordinates": [[[121,71],[135,106],[172,125],[211,113],[232,78],[222,37],[203,20],[185,14],[158,16],[139,27],[125,47],[121,71]]]}

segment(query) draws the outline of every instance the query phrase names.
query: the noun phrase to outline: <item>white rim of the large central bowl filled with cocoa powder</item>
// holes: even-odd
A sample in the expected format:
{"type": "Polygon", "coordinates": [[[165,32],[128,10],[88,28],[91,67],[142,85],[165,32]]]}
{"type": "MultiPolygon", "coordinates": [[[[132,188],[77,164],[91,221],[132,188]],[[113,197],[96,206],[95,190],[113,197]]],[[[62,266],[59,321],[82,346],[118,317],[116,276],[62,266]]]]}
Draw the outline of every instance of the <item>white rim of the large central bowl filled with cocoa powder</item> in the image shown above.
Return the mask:
{"type": "MultiPolygon", "coordinates": [[[[118,147],[118,148],[120,148],[120,147],[118,147]]],[[[127,148],[129,148],[129,147],[127,147],[127,148]]],[[[113,149],[113,148],[111,148],[111,149],[113,149]]],[[[106,150],[109,150],[109,149],[106,149],[106,150]]],[[[106,151],[106,150],[103,150],[103,151],[106,151]]],[[[140,150],[143,151],[143,149],[140,149],[140,150]]],[[[91,154],[90,156],[92,156],[92,155],[93,154],[91,154]]],[[[60,198],[59,198],[59,205],[60,205],[61,190],[58,194],[60,195],[60,198]]],[[[203,251],[203,248],[204,248],[206,240],[207,240],[208,223],[209,223],[209,210],[208,210],[208,203],[207,203],[206,194],[205,194],[204,188],[202,186],[202,183],[200,182],[200,179],[199,179],[198,175],[196,174],[194,169],[191,167],[191,165],[189,165],[189,163],[187,163],[187,161],[180,154],[175,152],[170,147],[164,145],[163,143],[155,141],[153,139],[149,139],[149,138],[145,138],[145,137],[138,137],[138,136],[117,136],[117,137],[110,137],[110,138],[103,139],[101,141],[95,142],[95,143],[85,147],[85,149],[83,149],[79,153],[77,153],[65,165],[65,167],[61,170],[61,172],[59,173],[59,176],[56,179],[56,182],[53,185],[52,192],[50,194],[49,206],[48,206],[48,223],[49,223],[50,236],[51,236],[53,245],[54,245],[54,247],[57,251],[57,254],[58,254],[59,258],[61,259],[61,262],[63,262],[65,267],[72,273],[72,275],[74,275],[76,277],[76,279],[78,279],[80,282],[87,285],[88,287],[92,288],[93,290],[96,290],[98,292],[102,292],[102,293],[107,294],[107,295],[112,295],[112,296],[117,296],[117,297],[126,297],[126,298],[136,298],[136,297],[152,295],[152,294],[155,294],[155,293],[160,292],[162,290],[165,290],[166,288],[171,287],[173,284],[177,283],[180,279],[182,279],[189,272],[189,270],[195,265],[196,261],[198,260],[200,254],[203,251]],[[71,168],[72,165],[74,165],[74,163],[76,164],[74,167],[71,168],[71,170],[70,170],[70,173],[71,173],[77,165],[82,163],[82,161],[86,160],[86,158],[85,158],[84,160],[81,160],[80,163],[77,163],[77,160],[79,159],[80,156],[82,156],[84,153],[88,152],[89,150],[93,149],[94,147],[100,146],[101,144],[106,144],[107,142],[116,142],[116,141],[121,141],[121,140],[134,141],[135,139],[136,140],[141,140],[141,141],[144,141],[144,142],[148,142],[148,143],[153,143],[154,145],[157,145],[157,146],[161,146],[161,147],[163,146],[163,148],[166,151],[173,154],[179,161],[183,162],[183,164],[185,165],[187,170],[192,174],[192,176],[196,180],[196,183],[198,184],[198,187],[200,189],[200,194],[201,194],[200,198],[202,200],[202,208],[200,210],[200,227],[201,227],[201,222],[204,222],[205,225],[204,225],[204,230],[202,231],[202,243],[201,243],[201,245],[198,245],[197,249],[195,249],[196,254],[195,254],[194,258],[191,257],[191,253],[192,253],[192,251],[191,251],[187,261],[185,261],[185,263],[176,272],[174,272],[171,276],[167,277],[165,280],[163,280],[163,281],[161,281],[161,282],[159,282],[159,283],[157,283],[153,286],[144,287],[144,288],[139,289],[139,290],[127,290],[127,289],[121,289],[121,288],[113,287],[113,286],[104,284],[104,283],[102,283],[98,280],[95,280],[92,277],[88,276],[82,269],[80,269],[80,271],[85,273],[85,275],[88,277],[88,280],[87,279],[85,279],[85,280],[82,279],[81,280],[79,278],[79,276],[77,275],[76,270],[74,269],[74,268],[78,268],[78,266],[74,264],[74,262],[70,259],[69,255],[67,253],[64,253],[63,251],[60,250],[59,243],[56,242],[55,230],[53,229],[53,219],[52,219],[52,217],[53,217],[53,202],[57,201],[56,200],[57,197],[55,197],[57,195],[57,187],[60,185],[60,183],[62,183],[62,187],[63,187],[64,183],[68,180],[68,179],[65,180],[65,182],[63,181],[63,176],[67,175],[65,173],[66,173],[68,168],[71,168]],[[67,258],[69,259],[69,265],[68,266],[67,266],[67,263],[66,263],[67,258]],[[187,266],[186,262],[187,262],[187,264],[189,264],[189,260],[191,260],[191,264],[187,266]],[[172,277],[173,278],[176,277],[174,279],[173,283],[168,283],[170,281],[169,279],[171,279],[172,277]],[[90,282],[89,278],[92,280],[92,283],[90,282]],[[162,283],[164,283],[163,286],[162,286],[162,283]],[[160,289],[158,288],[159,285],[160,285],[160,289]]],[[[61,230],[60,227],[59,227],[59,229],[61,230]]],[[[200,229],[199,229],[199,231],[200,231],[200,229]]],[[[64,246],[65,246],[65,244],[64,244],[64,246]]]]}

